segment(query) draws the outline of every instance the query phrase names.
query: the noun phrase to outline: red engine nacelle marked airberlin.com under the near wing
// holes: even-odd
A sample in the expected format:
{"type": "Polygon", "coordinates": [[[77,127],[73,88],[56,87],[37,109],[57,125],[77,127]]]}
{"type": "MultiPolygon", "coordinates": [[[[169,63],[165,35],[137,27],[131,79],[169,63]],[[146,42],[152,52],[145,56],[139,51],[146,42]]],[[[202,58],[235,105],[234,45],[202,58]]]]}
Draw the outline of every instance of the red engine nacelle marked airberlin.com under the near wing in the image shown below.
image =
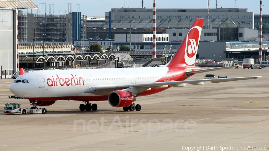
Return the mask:
{"type": "Polygon", "coordinates": [[[133,101],[135,97],[129,91],[113,91],[108,95],[108,102],[112,107],[127,107],[133,101]]]}

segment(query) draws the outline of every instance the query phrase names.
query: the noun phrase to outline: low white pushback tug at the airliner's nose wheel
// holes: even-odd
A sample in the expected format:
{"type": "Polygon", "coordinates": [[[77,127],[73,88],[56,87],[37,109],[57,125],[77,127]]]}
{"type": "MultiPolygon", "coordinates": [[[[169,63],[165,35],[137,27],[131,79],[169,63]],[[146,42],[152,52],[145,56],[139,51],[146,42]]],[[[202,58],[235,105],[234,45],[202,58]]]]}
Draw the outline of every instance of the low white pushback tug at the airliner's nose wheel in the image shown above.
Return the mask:
{"type": "Polygon", "coordinates": [[[46,114],[48,110],[46,108],[32,107],[30,109],[20,107],[21,104],[19,103],[7,103],[5,104],[4,113],[5,114],[35,114],[35,113],[42,113],[46,114]]]}

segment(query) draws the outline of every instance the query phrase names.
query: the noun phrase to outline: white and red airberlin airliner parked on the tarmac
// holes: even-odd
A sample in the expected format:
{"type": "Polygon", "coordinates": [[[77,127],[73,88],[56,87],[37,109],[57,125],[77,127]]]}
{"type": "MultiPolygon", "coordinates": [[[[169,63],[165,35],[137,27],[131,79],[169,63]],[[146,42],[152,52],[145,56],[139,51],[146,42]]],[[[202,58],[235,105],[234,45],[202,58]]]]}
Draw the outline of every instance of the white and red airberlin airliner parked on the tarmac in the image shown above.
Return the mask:
{"type": "Polygon", "coordinates": [[[195,58],[204,19],[196,19],[172,60],[163,67],[48,70],[26,73],[11,85],[10,91],[29,99],[36,106],[48,106],[57,100],[84,101],[80,110],[97,110],[94,101],[106,101],[112,107],[123,107],[124,111],[140,111],[134,104],[137,96],[151,95],[170,87],[188,84],[212,83],[255,79],[254,77],[201,79],[184,81],[195,73],[221,70],[221,67],[201,70],[195,67],[195,58]]]}

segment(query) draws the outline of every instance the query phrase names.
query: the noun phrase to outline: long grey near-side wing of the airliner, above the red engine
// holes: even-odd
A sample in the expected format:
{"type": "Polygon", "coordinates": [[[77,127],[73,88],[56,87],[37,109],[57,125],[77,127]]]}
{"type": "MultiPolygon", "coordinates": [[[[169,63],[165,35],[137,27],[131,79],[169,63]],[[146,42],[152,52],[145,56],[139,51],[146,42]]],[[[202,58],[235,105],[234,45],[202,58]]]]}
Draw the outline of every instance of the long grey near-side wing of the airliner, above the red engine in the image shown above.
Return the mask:
{"type": "Polygon", "coordinates": [[[185,80],[185,81],[169,81],[169,82],[155,82],[155,83],[146,83],[146,84],[129,84],[129,85],[108,85],[108,86],[96,86],[91,87],[84,91],[84,93],[93,93],[96,95],[109,95],[111,92],[116,90],[128,89],[130,87],[135,88],[143,88],[147,90],[149,87],[153,88],[162,88],[161,86],[172,86],[172,87],[180,87],[180,84],[194,84],[194,85],[203,85],[203,82],[210,81],[211,83],[219,83],[219,82],[228,82],[228,81],[238,81],[238,80],[249,80],[256,79],[261,76],[253,76],[253,77],[237,77],[237,78],[218,78],[218,79],[201,79],[201,80],[185,80]]]}

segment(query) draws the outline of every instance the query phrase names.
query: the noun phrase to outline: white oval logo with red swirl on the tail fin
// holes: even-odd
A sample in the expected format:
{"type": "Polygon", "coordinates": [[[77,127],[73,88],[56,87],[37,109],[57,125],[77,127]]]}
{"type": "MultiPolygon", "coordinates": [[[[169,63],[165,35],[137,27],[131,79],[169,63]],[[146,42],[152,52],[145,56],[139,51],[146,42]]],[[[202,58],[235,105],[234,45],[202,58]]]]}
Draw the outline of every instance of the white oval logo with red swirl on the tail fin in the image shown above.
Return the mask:
{"type": "Polygon", "coordinates": [[[187,65],[193,65],[195,63],[201,31],[202,31],[201,27],[195,26],[189,30],[189,33],[186,36],[187,41],[186,41],[184,59],[187,65]],[[197,34],[197,32],[199,34],[197,34]]]}

